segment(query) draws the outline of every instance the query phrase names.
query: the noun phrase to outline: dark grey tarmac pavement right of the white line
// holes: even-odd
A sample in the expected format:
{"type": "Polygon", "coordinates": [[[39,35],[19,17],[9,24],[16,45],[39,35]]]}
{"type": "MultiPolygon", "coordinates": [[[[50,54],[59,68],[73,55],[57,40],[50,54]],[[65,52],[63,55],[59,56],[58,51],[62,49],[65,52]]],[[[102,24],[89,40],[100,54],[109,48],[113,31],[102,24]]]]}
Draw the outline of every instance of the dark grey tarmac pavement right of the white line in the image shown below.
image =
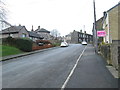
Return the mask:
{"type": "Polygon", "coordinates": [[[108,66],[103,57],[95,53],[94,47],[89,45],[66,88],[118,88],[118,74],[113,67],[108,66]]]}

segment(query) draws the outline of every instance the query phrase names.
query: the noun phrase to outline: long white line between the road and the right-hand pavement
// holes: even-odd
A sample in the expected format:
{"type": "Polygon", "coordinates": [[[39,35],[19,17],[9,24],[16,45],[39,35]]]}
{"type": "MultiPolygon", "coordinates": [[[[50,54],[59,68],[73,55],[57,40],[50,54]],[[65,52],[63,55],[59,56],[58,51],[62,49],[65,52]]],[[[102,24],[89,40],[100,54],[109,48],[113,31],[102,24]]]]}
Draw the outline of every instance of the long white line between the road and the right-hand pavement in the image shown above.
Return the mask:
{"type": "Polygon", "coordinates": [[[77,67],[77,64],[78,64],[78,62],[80,61],[80,59],[81,59],[84,51],[86,50],[86,48],[87,48],[87,46],[84,48],[84,50],[82,51],[82,53],[81,53],[80,56],[78,57],[78,59],[77,59],[75,65],[74,65],[73,69],[71,70],[70,74],[68,75],[68,77],[67,77],[67,79],[65,80],[64,84],[62,85],[61,90],[64,90],[64,88],[66,87],[68,81],[70,80],[70,77],[73,75],[73,73],[74,73],[74,71],[75,71],[75,68],[77,67]]]}

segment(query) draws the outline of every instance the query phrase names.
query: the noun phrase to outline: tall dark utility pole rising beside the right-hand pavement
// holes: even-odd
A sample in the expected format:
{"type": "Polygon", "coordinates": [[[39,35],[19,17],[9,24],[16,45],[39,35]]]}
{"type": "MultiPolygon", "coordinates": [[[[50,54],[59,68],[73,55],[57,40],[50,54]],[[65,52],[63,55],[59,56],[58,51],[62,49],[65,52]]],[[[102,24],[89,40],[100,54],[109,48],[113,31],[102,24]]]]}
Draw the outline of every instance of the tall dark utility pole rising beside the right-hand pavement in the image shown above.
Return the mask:
{"type": "Polygon", "coordinates": [[[97,29],[96,29],[96,10],[95,10],[95,0],[93,0],[93,8],[94,8],[94,46],[95,52],[98,53],[98,40],[97,40],[97,29]]]}

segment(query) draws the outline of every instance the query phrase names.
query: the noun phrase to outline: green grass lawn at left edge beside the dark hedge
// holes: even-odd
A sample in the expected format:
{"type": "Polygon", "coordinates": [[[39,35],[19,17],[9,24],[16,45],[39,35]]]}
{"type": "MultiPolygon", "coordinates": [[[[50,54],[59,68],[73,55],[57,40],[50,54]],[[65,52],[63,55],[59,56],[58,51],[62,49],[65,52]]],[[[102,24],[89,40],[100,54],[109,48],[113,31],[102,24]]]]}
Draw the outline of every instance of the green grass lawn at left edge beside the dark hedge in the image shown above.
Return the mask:
{"type": "Polygon", "coordinates": [[[23,53],[21,50],[6,45],[0,45],[0,57],[23,53]]]}

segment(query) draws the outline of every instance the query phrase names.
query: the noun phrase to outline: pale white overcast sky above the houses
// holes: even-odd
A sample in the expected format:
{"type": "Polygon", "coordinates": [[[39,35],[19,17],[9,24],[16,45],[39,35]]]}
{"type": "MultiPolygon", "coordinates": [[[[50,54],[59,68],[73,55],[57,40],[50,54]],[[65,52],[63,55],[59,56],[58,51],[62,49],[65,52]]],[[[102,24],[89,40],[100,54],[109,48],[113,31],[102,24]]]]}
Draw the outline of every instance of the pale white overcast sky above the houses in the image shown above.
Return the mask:
{"type": "MultiPolygon", "coordinates": [[[[120,0],[95,0],[96,19],[115,6],[120,0]]],[[[5,0],[7,21],[24,25],[30,31],[40,26],[48,31],[56,29],[61,36],[73,30],[86,30],[92,34],[94,22],[93,0],[5,0]],[[85,28],[84,28],[85,26],[85,28]]]]}

